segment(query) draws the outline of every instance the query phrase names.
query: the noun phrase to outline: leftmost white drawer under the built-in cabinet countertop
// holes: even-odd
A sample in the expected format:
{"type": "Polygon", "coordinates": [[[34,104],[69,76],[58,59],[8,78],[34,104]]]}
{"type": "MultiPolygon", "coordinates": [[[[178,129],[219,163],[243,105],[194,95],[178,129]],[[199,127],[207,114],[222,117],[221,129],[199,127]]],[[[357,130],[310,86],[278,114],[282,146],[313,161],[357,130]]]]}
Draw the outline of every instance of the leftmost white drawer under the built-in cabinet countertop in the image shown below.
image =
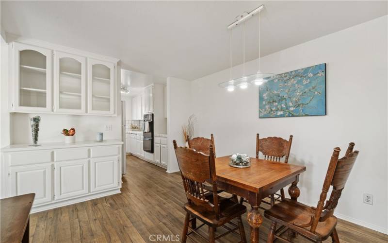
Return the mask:
{"type": "Polygon", "coordinates": [[[33,151],[9,153],[8,158],[11,166],[45,163],[51,161],[51,151],[33,151]]]}

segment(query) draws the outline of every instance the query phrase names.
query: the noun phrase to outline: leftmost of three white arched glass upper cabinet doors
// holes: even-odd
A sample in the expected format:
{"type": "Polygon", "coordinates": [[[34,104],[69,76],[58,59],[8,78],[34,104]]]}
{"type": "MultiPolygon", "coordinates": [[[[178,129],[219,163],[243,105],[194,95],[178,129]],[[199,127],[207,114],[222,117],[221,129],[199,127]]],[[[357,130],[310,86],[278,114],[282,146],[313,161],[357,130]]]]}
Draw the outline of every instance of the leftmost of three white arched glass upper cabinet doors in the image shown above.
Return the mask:
{"type": "Polygon", "coordinates": [[[15,87],[10,109],[51,111],[51,50],[18,42],[14,42],[12,48],[15,87]]]}

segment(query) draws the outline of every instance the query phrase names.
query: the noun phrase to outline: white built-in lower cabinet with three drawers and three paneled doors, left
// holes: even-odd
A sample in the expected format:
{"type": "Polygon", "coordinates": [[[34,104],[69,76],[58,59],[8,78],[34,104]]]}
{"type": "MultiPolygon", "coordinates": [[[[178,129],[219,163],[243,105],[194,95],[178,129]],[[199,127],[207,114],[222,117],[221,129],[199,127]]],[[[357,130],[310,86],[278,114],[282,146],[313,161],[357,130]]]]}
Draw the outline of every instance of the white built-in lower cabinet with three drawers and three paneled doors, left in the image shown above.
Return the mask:
{"type": "Polygon", "coordinates": [[[1,198],[35,193],[32,212],[120,192],[122,142],[1,149],[1,198]],[[78,146],[77,146],[78,145],[78,146]]]}

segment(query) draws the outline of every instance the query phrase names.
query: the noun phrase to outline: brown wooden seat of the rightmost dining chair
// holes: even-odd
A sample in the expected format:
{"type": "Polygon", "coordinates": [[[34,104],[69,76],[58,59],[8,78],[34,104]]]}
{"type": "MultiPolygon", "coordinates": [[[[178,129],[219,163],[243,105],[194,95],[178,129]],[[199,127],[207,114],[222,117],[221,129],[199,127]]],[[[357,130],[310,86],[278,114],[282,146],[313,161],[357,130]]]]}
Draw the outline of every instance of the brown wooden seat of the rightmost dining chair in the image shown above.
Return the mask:
{"type": "Polygon", "coordinates": [[[302,225],[308,225],[314,214],[315,209],[291,199],[285,199],[264,211],[266,218],[281,225],[291,226],[295,232],[308,235],[313,240],[323,241],[330,236],[337,225],[337,218],[330,216],[325,221],[319,222],[315,233],[312,233],[310,232],[311,226],[302,227],[302,225]]]}

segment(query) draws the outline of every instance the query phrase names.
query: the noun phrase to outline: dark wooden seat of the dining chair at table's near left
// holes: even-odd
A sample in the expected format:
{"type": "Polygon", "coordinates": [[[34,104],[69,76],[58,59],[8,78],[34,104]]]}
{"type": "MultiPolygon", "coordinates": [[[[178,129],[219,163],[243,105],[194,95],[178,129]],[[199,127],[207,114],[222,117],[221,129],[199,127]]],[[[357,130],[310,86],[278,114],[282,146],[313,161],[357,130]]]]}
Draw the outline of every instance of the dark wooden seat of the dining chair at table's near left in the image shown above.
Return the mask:
{"type": "MultiPolygon", "coordinates": [[[[213,203],[213,195],[207,195],[211,203],[213,203]]],[[[206,210],[201,206],[196,206],[194,204],[185,203],[184,208],[195,218],[204,222],[207,225],[211,226],[222,226],[225,223],[229,222],[231,219],[241,216],[246,212],[246,207],[239,204],[238,202],[233,202],[232,200],[218,196],[218,203],[220,205],[220,217],[216,218],[214,211],[206,210]]]]}

